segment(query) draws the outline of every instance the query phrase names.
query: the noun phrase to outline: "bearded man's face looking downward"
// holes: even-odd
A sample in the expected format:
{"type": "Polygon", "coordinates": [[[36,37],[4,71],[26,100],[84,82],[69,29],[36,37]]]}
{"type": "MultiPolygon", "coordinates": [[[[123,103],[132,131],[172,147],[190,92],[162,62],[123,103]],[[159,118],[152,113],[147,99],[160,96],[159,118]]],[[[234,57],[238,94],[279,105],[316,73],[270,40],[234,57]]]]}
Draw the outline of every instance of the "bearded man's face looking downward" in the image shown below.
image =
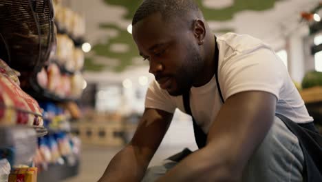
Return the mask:
{"type": "Polygon", "coordinates": [[[133,39],[149,61],[149,72],[173,96],[189,90],[202,72],[202,57],[188,26],[165,22],[155,13],[133,26],[133,39]]]}

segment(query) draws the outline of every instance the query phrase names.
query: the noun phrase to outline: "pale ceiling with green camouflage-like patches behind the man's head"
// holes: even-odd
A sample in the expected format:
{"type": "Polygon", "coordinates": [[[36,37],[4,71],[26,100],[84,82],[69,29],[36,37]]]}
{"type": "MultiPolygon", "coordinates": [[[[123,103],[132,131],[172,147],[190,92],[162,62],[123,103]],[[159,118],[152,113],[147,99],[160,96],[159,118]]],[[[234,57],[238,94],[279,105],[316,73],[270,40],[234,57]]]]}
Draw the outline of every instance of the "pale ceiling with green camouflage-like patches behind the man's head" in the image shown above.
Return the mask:
{"type": "MultiPolygon", "coordinates": [[[[301,24],[300,13],[318,0],[197,0],[215,34],[237,32],[263,39],[275,50],[301,24]]],[[[66,0],[66,6],[86,19],[86,39],[93,50],[86,55],[88,72],[127,72],[147,68],[138,57],[127,26],[141,0],[66,0]]],[[[147,70],[147,69],[146,69],[147,70]]],[[[102,74],[102,73],[100,73],[102,74]]],[[[119,75],[119,74],[118,74],[119,75]]]]}

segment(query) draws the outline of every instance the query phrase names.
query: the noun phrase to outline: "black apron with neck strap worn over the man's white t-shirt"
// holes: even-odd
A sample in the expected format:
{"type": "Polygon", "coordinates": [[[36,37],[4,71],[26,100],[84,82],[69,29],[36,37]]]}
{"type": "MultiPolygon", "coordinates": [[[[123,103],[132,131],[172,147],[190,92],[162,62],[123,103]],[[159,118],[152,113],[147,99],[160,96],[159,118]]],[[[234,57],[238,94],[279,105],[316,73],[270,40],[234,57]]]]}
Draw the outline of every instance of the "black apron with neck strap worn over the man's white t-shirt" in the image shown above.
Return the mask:
{"type": "MultiPolygon", "coordinates": [[[[217,82],[217,90],[219,92],[220,99],[224,103],[224,97],[222,97],[222,91],[220,90],[218,81],[218,62],[219,62],[219,49],[217,45],[217,40],[215,37],[215,79],[217,82]]],[[[198,148],[203,148],[206,145],[207,135],[204,133],[202,128],[197,125],[195,119],[193,118],[191,108],[190,108],[190,90],[182,94],[184,110],[186,114],[191,115],[193,120],[193,132],[195,134],[195,141],[198,148]]],[[[314,124],[297,124],[284,117],[281,114],[276,114],[283,123],[288,127],[288,129],[299,139],[299,144],[303,150],[303,156],[305,159],[305,164],[303,166],[303,180],[309,182],[322,182],[322,136],[314,128],[314,124]]],[[[192,152],[185,148],[182,152],[175,154],[168,159],[172,161],[181,161],[184,157],[188,156],[192,152]]]]}

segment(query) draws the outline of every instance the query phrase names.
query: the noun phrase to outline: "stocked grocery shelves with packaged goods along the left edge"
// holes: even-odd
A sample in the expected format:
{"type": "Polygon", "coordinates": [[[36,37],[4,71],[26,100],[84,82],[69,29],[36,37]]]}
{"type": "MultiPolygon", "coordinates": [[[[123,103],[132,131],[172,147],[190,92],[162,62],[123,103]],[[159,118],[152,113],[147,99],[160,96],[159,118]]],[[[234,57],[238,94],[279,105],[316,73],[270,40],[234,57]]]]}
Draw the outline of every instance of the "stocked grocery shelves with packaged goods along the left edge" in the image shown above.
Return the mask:
{"type": "Polygon", "coordinates": [[[74,101],[83,92],[84,54],[75,40],[85,23],[58,4],[0,2],[0,181],[78,174],[81,141],[69,121],[81,117],[74,101]],[[72,20],[62,24],[61,16],[72,20]]]}

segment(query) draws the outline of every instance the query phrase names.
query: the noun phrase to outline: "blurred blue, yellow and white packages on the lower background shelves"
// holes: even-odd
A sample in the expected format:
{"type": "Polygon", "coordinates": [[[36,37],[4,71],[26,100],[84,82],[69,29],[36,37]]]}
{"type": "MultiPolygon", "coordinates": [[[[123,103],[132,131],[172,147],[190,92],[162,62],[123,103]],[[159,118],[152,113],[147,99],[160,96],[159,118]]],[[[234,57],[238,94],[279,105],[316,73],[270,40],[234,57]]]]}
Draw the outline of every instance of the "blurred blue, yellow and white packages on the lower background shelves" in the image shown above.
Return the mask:
{"type": "Polygon", "coordinates": [[[48,181],[47,176],[52,176],[52,181],[58,181],[67,176],[77,174],[81,151],[81,141],[71,134],[69,119],[72,115],[69,110],[52,102],[40,102],[43,108],[44,126],[48,134],[39,137],[34,165],[39,169],[39,181],[48,181]],[[57,167],[61,168],[57,168],[57,167]],[[61,176],[60,170],[72,170],[72,173],[61,176]]]}

